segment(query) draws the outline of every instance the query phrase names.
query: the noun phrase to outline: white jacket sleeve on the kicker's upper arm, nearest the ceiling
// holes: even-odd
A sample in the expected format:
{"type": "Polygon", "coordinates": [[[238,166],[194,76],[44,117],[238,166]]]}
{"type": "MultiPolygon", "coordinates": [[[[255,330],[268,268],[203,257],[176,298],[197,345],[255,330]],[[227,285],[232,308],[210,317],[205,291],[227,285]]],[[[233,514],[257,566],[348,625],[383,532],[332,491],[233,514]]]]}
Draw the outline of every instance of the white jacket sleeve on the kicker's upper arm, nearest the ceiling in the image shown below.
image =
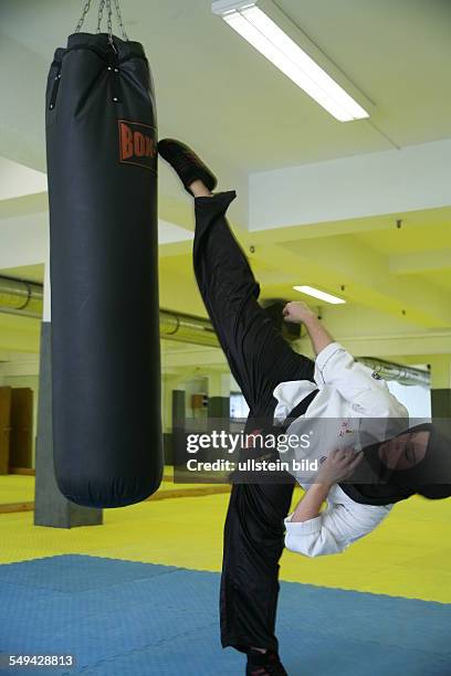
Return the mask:
{"type": "Polygon", "coordinates": [[[408,418],[407,409],[391,394],[385,380],[357,362],[339,342],[331,342],[316,357],[315,381],[332,385],[359,415],[408,418]]]}

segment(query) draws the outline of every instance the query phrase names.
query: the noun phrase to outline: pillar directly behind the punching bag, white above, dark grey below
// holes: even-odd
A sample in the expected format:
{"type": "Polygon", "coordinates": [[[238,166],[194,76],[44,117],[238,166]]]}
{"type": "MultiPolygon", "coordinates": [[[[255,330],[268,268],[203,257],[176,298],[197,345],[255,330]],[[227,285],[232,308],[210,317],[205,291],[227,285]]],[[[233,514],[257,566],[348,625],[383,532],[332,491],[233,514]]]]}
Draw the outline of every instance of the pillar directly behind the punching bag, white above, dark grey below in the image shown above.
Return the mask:
{"type": "Polygon", "coordinates": [[[52,360],[51,360],[50,276],[45,265],[44,315],[41,325],[38,439],[35,455],[34,525],[53,528],[98,526],[102,509],[81,507],[60,492],[53,467],[52,360]]]}

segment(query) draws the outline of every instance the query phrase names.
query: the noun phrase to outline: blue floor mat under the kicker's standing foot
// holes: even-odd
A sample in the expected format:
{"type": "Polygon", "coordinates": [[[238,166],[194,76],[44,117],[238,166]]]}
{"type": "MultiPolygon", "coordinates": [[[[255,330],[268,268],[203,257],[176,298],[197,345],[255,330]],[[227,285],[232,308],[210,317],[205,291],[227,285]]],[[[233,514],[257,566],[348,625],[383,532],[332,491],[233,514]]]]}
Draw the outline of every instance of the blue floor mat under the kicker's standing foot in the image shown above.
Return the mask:
{"type": "MultiPolygon", "coordinates": [[[[218,573],[96,557],[0,566],[0,653],[76,658],[0,674],[243,674],[220,646],[218,591],[218,573]]],[[[290,676],[451,674],[451,605],[282,582],[279,608],[290,676]]]]}

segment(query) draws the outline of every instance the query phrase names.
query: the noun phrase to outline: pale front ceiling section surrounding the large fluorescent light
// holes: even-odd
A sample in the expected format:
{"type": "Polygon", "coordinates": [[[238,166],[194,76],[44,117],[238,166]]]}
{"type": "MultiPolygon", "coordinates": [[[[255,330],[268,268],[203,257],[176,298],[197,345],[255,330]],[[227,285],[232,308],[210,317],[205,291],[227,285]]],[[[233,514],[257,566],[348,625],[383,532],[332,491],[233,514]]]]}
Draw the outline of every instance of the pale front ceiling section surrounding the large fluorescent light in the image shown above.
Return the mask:
{"type": "MultiPolygon", "coordinates": [[[[375,102],[374,118],[336,122],[213,15],[210,0],[123,0],[129,36],[153,67],[161,136],[181,136],[219,169],[242,172],[451,136],[451,2],[276,3],[375,102]]],[[[49,65],[82,4],[2,0],[0,31],[49,65]]],[[[25,83],[24,74],[18,86],[25,83]]]]}

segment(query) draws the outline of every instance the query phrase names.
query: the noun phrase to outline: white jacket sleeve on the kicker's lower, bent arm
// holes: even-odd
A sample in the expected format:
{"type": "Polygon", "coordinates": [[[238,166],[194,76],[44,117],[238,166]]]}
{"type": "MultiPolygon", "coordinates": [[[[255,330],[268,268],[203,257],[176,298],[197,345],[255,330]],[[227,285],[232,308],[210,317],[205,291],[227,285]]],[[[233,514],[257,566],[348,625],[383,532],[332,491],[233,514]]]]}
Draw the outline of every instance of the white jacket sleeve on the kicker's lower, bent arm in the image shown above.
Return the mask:
{"type": "Polygon", "coordinates": [[[285,547],[305,557],[339,553],[352,542],[371,532],[389,513],[391,506],[328,505],[319,516],[308,521],[285,519],[285,547]]]}

